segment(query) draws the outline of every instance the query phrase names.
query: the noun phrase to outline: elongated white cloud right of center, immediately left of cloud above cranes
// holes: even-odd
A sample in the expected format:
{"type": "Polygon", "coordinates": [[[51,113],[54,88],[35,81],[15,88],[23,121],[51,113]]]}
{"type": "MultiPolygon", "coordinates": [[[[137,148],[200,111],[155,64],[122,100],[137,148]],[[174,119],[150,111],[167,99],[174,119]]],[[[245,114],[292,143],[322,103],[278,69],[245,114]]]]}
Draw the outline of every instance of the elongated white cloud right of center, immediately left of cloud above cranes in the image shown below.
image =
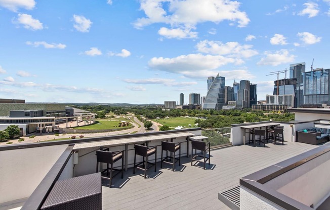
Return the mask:
{"type": "Polygon", "coordinates": [[[252,49],[253,45],[239,44],[238,42],[222,43],[221,41],[203,40],[196,44],[201,53],[213,55],[228,55],[229,57],[250,58],[258,55],[257,50],[252,49]]]}

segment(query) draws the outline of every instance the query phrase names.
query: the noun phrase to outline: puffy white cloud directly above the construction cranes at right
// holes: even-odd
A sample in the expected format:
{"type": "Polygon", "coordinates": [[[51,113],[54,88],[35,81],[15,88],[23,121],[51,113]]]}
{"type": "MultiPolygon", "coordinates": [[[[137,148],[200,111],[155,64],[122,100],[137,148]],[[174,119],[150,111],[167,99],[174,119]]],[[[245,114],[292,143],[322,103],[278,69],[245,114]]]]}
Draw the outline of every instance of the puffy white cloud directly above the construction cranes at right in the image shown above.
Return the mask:
{"type": "Polygon", "coordinates": [[[270,51],[265,51],[265,56],[262,58],[257,64],[258,65],[271,65],[278,66],[280,64],[287,64],[295,61],[294,55],[290,55],[287,49],[281,49],[276,51],[275,53],[271,53],[270,51]]]}

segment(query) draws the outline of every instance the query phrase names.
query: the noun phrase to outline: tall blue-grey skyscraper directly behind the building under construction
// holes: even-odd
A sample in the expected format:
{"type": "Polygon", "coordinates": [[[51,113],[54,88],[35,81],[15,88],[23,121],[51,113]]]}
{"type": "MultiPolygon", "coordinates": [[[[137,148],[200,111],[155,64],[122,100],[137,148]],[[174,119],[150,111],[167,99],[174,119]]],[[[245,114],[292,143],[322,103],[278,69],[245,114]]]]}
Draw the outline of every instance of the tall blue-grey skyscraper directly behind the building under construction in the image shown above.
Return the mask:
{"type": "Polygon", "coordinates": [[[296,98],[297,98],[298,108],[305,103],[304,75],[303,75],[305,73],[305,66],[306,66],[305,62],[290,65],[290,78],[297,79],[296,98]]]}

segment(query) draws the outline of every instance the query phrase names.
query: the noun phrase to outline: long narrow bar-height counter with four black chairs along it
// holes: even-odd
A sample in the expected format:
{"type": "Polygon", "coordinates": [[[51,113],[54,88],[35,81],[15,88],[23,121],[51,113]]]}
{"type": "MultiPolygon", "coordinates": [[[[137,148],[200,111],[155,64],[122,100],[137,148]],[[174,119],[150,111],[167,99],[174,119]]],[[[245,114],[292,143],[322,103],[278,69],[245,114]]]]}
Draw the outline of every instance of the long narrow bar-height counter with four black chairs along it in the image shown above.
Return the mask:
{"type": "Polygon", "coordinates": [[[142,136],[142,137],[135,137],[135,138],[123,138],[118,140],[110,140],[110,141],[96,141],[96,142],[90,142],[90,143],[81,143],[81,144],[75,144],[73,149],[79,150],[84,148],[103,148],[103,147],[113,147],[113,146],[122,146],[125,145],[125,171],[128,170],[128,146],[130,144],[140,144],[140,143],[146,143],[148,146],[148,143],[151,141],[156,140],[165,140],[170,139],[173,141],[173,139],[185,137],[187,141],[187,156],[189,155],[189,137],[194,136],[195,134],[189,133],[189,132],[183,132],[183,133],[173,133],[173,134],[162,134],[162,135],[152,135],[152,136],[142,136]]]}

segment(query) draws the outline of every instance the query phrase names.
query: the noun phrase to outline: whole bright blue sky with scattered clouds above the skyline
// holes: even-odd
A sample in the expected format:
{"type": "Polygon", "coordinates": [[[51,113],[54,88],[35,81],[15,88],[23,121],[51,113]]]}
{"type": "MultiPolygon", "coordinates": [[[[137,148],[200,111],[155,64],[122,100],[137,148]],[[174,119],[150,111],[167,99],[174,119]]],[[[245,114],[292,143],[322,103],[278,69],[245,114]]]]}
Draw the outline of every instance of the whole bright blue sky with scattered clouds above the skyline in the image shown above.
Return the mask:
{"type": "Polygon", "coordinates": [[[330,68],[329,23],[330,0],[0,0],[0,98],[187,103],[219,73],[262,100],[269,72],[330,68]]]}

